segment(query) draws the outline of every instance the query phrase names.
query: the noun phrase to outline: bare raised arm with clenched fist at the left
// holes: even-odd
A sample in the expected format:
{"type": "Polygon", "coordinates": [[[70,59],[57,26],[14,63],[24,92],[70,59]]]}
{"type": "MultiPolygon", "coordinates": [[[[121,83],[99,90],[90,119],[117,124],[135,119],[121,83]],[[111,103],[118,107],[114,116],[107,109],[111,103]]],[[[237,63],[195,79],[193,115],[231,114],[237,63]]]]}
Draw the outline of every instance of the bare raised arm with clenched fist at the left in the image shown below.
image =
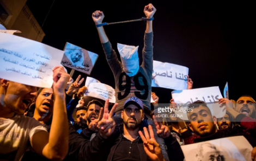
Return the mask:
{"type": "Polygon", "coordinates": [[[36,153],[50,160],[63,160],[68,153],[69,127],[66,114],[65,87],[70,76],[63,67],[53,68],[54,105],[50,134],[36,132],[31,145],[36,153]]]}

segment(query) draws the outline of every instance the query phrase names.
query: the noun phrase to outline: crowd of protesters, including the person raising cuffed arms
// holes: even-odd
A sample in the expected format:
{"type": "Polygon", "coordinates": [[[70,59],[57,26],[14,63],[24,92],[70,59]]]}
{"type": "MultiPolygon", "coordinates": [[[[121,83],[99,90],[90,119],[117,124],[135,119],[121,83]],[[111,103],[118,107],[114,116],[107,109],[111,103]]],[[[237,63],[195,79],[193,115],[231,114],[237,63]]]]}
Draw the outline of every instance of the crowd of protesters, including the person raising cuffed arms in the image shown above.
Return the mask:
{"type": "MultiPolygon", "coordinates": [[[[159,101],[151,90],[155,12],[153,4],[144,8],[143,61],[138,67],[118,60],[103,29],[103,12],[92,14],[114,75],[115,104],[97,98],[84,102],[87,87],[80,87],[84,78],[79,75],[69,84],[70,75],[61,66],[53,69],[52,88],[1,78],[0,160],[179,161],[185,159],[181,146],[231,136],[245,137],[253,147],[252,160],[256,160],[256,102],[249,95],[236,101],[219,99],[226,109],[222,118],[216,118],[202,100],[188,106],[193,109],[187,112],[188,121],[172,117],[164,123],[156,118],[151,109],[159,101]],[[155,102],[150,102],[151,97],[155,102]]],[[[187,89],[192,87],[193,81],[187,77],[187,89]]],[[[176,106],[171,99],[170,107],[176,106]]]]}

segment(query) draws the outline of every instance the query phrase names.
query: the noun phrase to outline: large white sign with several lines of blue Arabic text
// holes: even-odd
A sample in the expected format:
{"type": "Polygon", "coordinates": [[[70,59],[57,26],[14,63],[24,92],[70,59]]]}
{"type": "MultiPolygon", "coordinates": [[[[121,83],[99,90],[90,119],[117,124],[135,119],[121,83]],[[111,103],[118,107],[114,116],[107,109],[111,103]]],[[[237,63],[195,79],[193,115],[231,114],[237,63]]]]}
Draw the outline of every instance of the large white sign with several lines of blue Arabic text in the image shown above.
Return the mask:
{"type": "Polygon", "coordinates": [[[1,78],[42,88],[53,83],[52,69],[64,51],[20,36],[0,33],[1,78]]]}

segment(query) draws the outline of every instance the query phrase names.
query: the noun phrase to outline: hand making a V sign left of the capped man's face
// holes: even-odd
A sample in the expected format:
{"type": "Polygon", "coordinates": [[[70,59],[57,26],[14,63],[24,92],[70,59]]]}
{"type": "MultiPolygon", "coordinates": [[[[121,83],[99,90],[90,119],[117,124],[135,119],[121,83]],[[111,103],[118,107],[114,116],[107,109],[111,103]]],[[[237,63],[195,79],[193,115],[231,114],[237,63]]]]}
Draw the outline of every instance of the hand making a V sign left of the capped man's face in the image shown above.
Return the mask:
{"type": "Polygon", "coordinates": [[[105,101],[103,117],[97,125],[100,131],[100,134],[103,138],[108,138],[109,136],[111,136],[115,128],[115,121],[112,119],[112,116],[114,114],[115,108],[117,107],[118,103],[115,103],[113,105],[109,113],[108,113],[108,104],[109,104],[109,99],[105,101]]]}

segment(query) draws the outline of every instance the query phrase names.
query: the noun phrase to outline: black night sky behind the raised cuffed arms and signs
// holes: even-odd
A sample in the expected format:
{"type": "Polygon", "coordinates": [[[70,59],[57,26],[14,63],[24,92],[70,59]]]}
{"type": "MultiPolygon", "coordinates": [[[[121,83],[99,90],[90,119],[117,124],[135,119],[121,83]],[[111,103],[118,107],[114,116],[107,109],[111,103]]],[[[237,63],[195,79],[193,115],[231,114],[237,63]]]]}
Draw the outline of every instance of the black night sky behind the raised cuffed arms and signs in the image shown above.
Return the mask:
{"type": "MultiPolygon", "coordinates": [[[[243,94],[256,99],[254,86],[255,13],[252,2],[162,2],[162,1],[32,1],[27,5],[46,36],[42,43],[63,50],[70,42],[99,55],[90,77],[114,87],[114,77],[101,47],[92,13],[101,10],[103,22],[134,20],[144,16],[152,3],[154,15],[154,60],[189,68],[193,88],[219,86],[228,81],[230,99],[243,94]],[[50,10],[50,12],[49,12],[50,10]],[[48,14],[48,15],[47,15],[48,14]]],[[[117,43],[143,48],[143,21],[105,26],[117,43]]],[[[70,69],[68,69],[70,71],[70,69]]],[[[76,78],[79,72],[75,72],[76,78]]],[[[87,74],[82,74],[86,79],[87,74]]],[[[171,89],[152,89],[160,103],[169,102],[171,89]]]]}

